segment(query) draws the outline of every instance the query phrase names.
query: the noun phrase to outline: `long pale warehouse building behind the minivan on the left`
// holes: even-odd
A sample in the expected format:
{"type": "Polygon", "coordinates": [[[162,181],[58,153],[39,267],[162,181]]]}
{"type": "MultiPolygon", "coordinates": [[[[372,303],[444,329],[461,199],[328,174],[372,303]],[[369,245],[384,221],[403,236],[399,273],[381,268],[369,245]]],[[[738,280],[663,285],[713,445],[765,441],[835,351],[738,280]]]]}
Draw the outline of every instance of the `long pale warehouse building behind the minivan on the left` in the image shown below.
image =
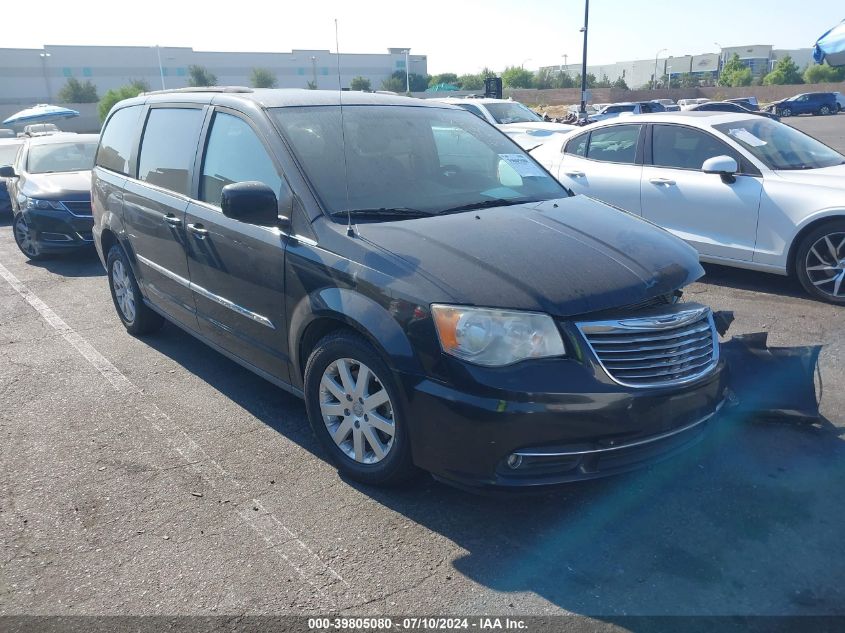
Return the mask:
{"type": "MultiPolygon", "coordinates": [[[[354,77],[370,80],[373,89],[395,71],[427,74],[425,55],[407,48],[386,53],[340,55],[340,83],[346,88],[354,77]]],[[[146,81],[153,90],[182,88],[188,67],[206,68],[220,85],[249,86],[255,68],[269,70],[279,88],[337,88],[338,56],[327,50],[289,53],[195,51],[188,47],[158,46],[44,46],[0,48],[0,103],[44,103],[56,99],[67,80],[90,80],[99,95],[132,80],[146,81]]]]}

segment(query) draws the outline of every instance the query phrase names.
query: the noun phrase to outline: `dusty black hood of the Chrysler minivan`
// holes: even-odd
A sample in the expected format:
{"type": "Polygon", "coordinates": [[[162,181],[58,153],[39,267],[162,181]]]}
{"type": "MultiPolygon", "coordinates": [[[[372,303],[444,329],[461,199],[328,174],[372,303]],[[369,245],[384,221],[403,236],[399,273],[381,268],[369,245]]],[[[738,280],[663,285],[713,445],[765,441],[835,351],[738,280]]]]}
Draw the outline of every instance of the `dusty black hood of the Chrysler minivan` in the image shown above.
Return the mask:
{"type": "Polygon", "coordinates": [[[440,289],[423,301],[568,317],[633,305],[704,274],[678,238],[586,196],[361,224],[358,232],[440,289]]]}

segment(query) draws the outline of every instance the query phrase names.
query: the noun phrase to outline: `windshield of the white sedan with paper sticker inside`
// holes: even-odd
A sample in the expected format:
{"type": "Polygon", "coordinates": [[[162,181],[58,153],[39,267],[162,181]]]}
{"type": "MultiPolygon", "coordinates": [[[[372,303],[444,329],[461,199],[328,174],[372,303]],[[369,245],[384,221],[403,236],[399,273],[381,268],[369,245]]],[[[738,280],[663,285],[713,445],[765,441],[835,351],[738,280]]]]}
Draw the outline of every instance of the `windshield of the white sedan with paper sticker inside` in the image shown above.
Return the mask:
{"type": "Polygon", "coordinates": [[[742,145],[769,169],[821,169],[845,156],[811,136],[771,119],[720,123],[714,128],[742,145]]]}

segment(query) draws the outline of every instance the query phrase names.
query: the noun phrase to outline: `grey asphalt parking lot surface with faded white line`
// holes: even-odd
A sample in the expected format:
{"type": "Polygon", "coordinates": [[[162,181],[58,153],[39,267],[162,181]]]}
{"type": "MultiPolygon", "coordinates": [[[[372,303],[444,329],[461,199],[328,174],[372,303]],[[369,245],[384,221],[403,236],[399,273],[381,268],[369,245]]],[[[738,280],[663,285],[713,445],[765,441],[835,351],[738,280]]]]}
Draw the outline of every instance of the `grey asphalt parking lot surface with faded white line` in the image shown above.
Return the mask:
{"type": "MultiPolygon", "coordinates": [[[[845,144],[845,116],[789,121],[845,144]]],[[[535,496],[338,477],[301,401],[177,328],[133,338],[93,253],[0,220],[0,614],[843,614],[845,309],[709,266],[730,334],[823,346],[821,424],[535,496]]]]}

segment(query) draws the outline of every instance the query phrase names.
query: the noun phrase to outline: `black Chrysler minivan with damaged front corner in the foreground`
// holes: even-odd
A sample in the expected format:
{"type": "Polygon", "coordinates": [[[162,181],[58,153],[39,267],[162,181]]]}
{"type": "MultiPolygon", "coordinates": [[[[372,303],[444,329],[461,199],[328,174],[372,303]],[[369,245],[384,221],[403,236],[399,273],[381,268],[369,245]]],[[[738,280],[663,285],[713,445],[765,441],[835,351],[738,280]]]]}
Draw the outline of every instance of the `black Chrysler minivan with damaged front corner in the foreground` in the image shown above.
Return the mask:
{"type": "Polygon", "coordinates": [[[305,399],[348,476],[598,477],[700,437],[725,399],[695,251],[571,196],[463,109],[212,88],[122,101],[94,240],[126,329],[163,319],[305,399]]]}

